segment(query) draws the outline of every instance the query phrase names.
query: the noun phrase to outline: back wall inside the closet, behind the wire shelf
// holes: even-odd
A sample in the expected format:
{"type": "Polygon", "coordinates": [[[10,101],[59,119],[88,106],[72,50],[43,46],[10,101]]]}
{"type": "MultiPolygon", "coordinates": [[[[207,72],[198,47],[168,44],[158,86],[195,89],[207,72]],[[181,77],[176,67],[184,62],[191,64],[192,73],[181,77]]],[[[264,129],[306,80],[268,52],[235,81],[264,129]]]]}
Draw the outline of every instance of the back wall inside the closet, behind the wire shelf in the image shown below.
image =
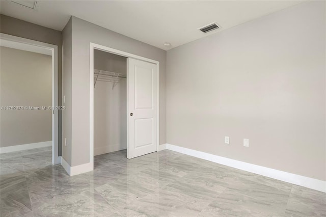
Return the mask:
{"type": "MultiPolygon", "coordinates": [[[[94,50],[94,69],[127,73],[127,58],[94,50]]],[[[127,148],[126,78],[112,89],[98,80],[94,88],[94,155],[127,148]]]]}

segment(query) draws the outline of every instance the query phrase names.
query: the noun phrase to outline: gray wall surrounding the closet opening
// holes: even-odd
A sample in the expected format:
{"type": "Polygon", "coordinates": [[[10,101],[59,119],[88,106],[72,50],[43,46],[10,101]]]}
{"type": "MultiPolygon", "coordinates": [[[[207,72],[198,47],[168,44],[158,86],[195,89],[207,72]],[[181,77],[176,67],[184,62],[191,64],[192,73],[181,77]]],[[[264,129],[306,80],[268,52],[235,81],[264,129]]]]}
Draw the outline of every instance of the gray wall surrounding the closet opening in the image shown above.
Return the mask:
{"type": "MultiPolygon", "coordinates": [[[[160,144],[166,143],[166,51],[72,17],[71,166],[89,159],[89,47],[90,42],[160,62],[160,144]],[[83,96],[83,97],[80,97],[83,96]]],[[[64,57],[65,58],[65,57],[64,57]]],[[[65,93],[63,93],[65,94],[65,93]]],[[[63,131],[65,134],[65,130],[63,131]]],[[[68,144],[67,144],[68,145],[68,144]]]]}

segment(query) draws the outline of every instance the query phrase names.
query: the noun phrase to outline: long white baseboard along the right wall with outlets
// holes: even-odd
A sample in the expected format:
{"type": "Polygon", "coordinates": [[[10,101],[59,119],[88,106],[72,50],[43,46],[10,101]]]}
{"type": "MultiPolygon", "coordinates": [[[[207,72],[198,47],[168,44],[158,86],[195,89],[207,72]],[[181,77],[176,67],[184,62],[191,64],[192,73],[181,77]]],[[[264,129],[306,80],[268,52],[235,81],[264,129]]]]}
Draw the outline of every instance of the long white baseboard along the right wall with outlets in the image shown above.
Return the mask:
{"type": "Polygon", "coordinates": [[[315,189],[320,192],[326,192],[326,181],[322,181],[319,179],[313,179],[306,176],[296,175],[293,173],[288,173],[280,170],[275,170],[267,167],[262,167],[254,164],[249,164],[247,162],[242,162],[239,160],[234,160],[226,157],[221,157],[218,155],[208,154],[201,151],[196,151],[193,149],[183,148],[180,146],[175,146],[171,144],[167,144],[166,148],[168,150],[180,152],[183,154],[187,154],[190,156],[198,157],[201,159],[209,160],[212,162],[216,162],[218,164],[226,165],[229,167],[233,167],[236,169],[248,171],[251,173],[259,174],[262,176],[267,176],[270,178],[278,179],[281,181],[289,182],[292,184],[308,187],[311,189],[315,189]]]}

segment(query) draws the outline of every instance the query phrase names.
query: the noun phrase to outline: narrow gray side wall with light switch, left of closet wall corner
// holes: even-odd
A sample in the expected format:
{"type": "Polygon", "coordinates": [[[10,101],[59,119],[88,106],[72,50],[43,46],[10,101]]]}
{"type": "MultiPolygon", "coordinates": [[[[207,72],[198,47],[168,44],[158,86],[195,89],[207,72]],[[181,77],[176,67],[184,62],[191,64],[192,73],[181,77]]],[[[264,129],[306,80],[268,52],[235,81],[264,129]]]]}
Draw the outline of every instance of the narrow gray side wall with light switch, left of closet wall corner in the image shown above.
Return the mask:
{"type": "MultiPolygon", "coordinates": [[[[62,94],[66,101],[62,104],[66,107],[62,111],[62,157],[71,165],[71,117],[72,117],[72,22],[71,19],[62,31],[62,94]],[[65,144],[65,138],[67,144],[65,144]]],[[[80,97],[80,96],[79,96],[80,97]]]]}

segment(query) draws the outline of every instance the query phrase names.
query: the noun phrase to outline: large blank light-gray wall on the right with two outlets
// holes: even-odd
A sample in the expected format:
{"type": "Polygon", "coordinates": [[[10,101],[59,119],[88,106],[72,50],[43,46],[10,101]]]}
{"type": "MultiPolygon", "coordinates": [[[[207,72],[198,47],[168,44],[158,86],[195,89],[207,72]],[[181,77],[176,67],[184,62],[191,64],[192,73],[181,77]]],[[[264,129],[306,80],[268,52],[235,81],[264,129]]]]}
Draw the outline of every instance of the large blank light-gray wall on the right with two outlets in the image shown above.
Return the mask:
{"type": "Polygon", "coordinates": [[[169,50],[167,143],[326,180],[325,27],[308,2],[169,50]]]}

